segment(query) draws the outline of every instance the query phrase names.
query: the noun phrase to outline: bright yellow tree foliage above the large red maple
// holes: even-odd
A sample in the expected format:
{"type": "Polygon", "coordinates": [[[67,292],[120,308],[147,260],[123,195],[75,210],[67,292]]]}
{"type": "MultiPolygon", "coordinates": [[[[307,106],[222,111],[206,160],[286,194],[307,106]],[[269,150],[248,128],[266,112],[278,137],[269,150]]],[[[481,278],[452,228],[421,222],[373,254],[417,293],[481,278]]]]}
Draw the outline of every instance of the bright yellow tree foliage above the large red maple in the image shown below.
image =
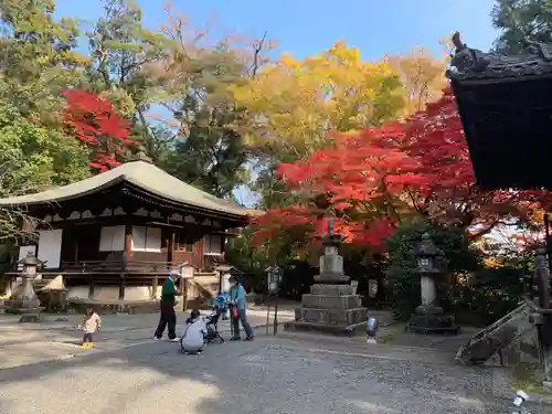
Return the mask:
{"type": "Polygon", "coordinates": [[[386,62],[363,62],[341,41],[302,61],[283,54],[232,93],[248,112],[242,131],[250,144],[294,158],[325,147],[332,131],[393,119],[403,100],[399,74],[386,62]]]}

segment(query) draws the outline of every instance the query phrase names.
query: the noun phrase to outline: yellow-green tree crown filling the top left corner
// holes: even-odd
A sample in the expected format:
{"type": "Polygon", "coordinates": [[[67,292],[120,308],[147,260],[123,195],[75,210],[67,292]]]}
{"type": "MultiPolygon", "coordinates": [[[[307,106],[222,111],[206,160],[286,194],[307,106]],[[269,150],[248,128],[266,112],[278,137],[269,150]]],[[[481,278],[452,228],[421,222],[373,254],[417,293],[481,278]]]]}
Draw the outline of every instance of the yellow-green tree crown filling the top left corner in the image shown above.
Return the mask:
{"type": "Polygon", "coordinates": [[[86,59],[73,51],[78,29],[53,18],[53,0],[0,2],[2,97],[22,115],[55,124],[62,91],[82,81],[86,59]]]}

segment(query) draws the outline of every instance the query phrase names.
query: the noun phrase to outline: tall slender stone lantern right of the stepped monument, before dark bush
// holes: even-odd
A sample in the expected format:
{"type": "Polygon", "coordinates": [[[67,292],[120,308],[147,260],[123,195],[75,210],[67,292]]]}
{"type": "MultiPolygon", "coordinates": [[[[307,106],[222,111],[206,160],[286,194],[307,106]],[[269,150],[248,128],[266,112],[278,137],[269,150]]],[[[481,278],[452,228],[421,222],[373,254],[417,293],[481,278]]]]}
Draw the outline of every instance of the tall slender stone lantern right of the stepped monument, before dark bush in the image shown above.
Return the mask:
{"type": "Polygon", "coordinates": [[[416,333],[458,333],[454,316],[445,315],[437,302],[437,278],[444,272],[440,268],[443,252],[429,234],[424,233],[414,255],[420,270],[422,302],[411,316],[407,328],[416,333]]]}

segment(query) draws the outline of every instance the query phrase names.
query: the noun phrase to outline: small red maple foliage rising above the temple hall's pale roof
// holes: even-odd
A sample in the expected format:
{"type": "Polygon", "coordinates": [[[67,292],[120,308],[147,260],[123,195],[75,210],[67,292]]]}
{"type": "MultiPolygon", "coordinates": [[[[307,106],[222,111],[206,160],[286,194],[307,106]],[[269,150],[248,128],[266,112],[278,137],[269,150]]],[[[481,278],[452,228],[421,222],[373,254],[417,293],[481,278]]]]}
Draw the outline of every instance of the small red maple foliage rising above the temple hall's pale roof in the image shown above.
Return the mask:
{"type": "Polygon", "coordinates": [[[64,124],[93,147],[91,168],[105,172],[120,166],[125,147],[136,144],[128,137],[130,123],[116,113],[109,100],[95,93],[72,89],[63,94],[64,124]]]}

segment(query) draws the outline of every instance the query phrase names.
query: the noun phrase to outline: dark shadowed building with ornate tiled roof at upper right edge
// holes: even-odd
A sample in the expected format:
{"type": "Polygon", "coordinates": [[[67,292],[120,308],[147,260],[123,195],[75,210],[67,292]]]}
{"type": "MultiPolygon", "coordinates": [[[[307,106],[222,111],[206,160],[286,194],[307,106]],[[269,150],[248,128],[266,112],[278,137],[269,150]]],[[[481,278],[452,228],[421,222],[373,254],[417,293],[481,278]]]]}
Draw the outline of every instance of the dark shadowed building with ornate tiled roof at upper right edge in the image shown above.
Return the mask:
{"type": "Polygon", "coordinates": [[[518,55],[468,47],[459,33],[447,77],[476,182],[486,190],[552,190],[552,44],[518,55]]]}

